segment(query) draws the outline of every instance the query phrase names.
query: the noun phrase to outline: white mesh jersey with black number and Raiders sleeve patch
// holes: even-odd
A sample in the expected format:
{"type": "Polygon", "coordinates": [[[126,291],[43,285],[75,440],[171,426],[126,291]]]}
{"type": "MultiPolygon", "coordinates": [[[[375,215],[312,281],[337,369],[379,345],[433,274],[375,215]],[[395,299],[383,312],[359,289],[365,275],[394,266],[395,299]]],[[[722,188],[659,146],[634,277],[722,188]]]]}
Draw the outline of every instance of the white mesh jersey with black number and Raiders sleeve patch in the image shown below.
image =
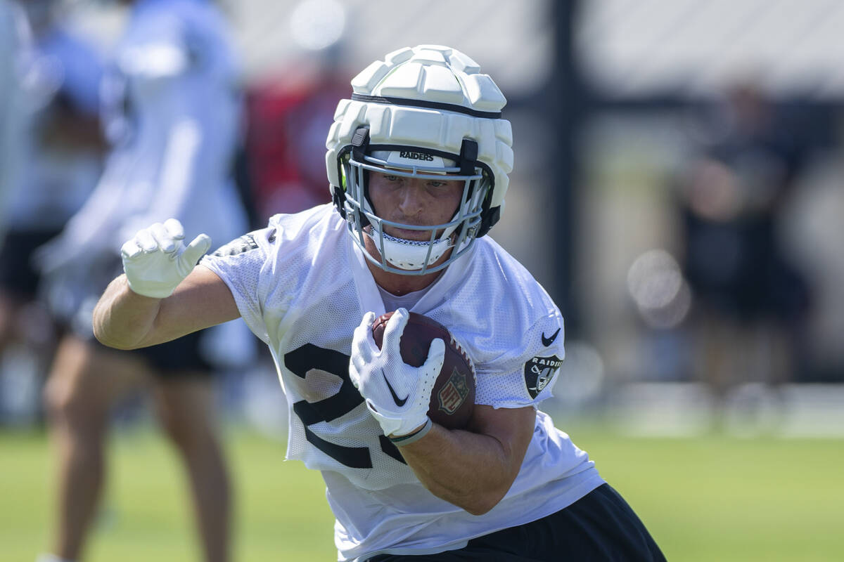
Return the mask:
{"type": "MultiPolygon", "coordinates": [[[[333,206],[276,215],[201,263],[230,287],[273,353],[290,406],[287,457],[322,471],[340,559],[460,548],[558,511],[603,482],[587,454],[538,412],[516,482],[484,516],[419,483],[349,380],[354,328],[366,311],[385,311],[333,206]]],[[[560,312],[490,238],[449,266],[413,310],[448,326],[473,359],[478,404],[517,408],[551,395],[564,356],[560,312]]]]}

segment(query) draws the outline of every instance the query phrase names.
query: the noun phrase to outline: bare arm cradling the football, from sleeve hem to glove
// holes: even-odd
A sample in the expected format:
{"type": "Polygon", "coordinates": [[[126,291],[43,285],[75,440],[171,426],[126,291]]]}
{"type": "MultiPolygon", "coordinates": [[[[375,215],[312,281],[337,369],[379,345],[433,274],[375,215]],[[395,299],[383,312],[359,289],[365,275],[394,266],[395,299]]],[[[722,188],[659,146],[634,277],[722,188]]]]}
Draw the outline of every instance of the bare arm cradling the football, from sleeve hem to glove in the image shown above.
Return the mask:
{"type": "Polygon", "coordinates": [[[398,448],[432,494],[483,515],[515,481],[535,420],[533,406],[495,409],[477,404],[468,431],[434,424],[427,435],[398,448]]]}

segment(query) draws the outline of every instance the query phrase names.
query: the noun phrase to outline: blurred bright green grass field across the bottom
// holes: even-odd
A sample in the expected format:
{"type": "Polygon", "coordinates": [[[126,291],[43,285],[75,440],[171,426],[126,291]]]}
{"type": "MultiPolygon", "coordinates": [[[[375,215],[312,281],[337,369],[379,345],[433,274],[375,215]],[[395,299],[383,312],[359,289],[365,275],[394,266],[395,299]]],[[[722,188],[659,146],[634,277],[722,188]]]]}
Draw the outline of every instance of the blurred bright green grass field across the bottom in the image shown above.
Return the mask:
{"type": "MultiPolygon", "coordinates": [[[[570,431],[630,501],[669,560],[841,560],[840,440],[631,439],[570,431]]],[[[198,560],[181,468],[153,431],[114,439],[106,507],[89,562],[198,560]]],[[[333,560],[322,479],[284,444],[228,435],[235,559],[333,560]]],[[[51,527],[51,454],[41,433],[0,433],[0,560],[32,562],[51,527]]]]}

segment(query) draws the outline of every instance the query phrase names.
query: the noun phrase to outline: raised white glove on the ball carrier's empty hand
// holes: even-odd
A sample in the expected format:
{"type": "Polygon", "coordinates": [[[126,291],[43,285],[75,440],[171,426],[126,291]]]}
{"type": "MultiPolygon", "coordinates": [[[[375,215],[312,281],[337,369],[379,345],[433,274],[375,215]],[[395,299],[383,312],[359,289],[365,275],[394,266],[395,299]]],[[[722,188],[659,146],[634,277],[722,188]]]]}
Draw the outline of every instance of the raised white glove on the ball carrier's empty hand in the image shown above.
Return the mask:
{"type": "Polygon", "coordinates": [[[211,247],[208,234],[184,244],[185,230],[175,218],[138,230],[120,255],[129,287],[144,297],[170,297],[176,286],[211,247]]]}

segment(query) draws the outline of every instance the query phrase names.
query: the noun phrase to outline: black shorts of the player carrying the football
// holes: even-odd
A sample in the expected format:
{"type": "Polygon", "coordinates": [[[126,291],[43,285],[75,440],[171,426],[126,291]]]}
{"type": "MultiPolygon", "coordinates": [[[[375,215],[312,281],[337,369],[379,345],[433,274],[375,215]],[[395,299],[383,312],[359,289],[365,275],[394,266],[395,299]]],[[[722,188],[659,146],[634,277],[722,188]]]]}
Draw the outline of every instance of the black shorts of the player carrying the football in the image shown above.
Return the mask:
{"type": "Polygon", "coordinates": [[[368,562],[656,562],[665,556],[645,525],[609,484],[548,517],[473,538],[439,554],[377,554],[368,562]]]}

